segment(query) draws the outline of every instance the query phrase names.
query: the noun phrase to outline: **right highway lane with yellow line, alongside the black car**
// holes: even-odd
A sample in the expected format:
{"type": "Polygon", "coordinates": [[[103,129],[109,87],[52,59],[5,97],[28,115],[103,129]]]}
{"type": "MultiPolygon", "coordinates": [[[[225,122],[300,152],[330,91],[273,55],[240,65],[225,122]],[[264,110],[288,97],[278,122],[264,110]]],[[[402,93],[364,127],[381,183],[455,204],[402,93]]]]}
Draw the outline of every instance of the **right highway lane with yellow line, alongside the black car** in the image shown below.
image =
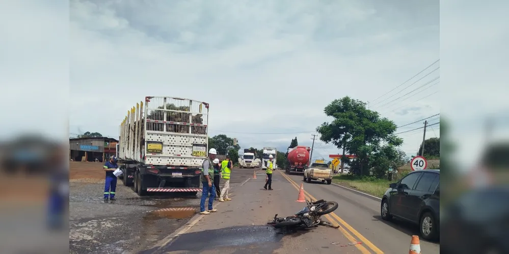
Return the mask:
{"type": "MultiPolygon", "coordinates": [[[[281,176],[284,172],[280,172],[281,176]]],[[[285,174],[286,176],[286,174],[285,174]]],[[[302,175],[289,175],[298,185],[304,183],[306,196],[336,201],[339,208],[335,218],[356,239],[363,241],[372,253],[408,253],[412,235],[419,235],[417,226],[404,221],[384,221],[380,216],[381,200],[359,194],[353,190],[321,182],[307,183],[302,175]],[[355,230],[355,232],[354,232],[355,230]],[[366,241],[367,240],[367,241],[366,241]]],[[[420,239],[422,253],[439,253],[439,242],[420,239]]]]}

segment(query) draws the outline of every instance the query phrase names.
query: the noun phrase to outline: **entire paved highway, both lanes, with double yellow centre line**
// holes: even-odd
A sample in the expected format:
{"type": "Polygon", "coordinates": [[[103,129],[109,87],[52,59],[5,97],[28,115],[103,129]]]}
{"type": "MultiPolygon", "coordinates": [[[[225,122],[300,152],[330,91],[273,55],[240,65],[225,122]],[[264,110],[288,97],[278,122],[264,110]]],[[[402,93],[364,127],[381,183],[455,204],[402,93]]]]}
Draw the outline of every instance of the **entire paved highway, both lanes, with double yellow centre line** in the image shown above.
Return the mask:
{"type": "MultiPolygon", "coordinates": [[[[196,215],[189,223],[142,253],[408,253],[415,227],[380,220],[380,201],[351,190],[304,183],[307,199],[336,201],[339,208],[323,216],[339,229],[320,226],[281,235],[266,226],[276,213],[291,215],[305,206],[295,202],[302,176],[275,171],[274,190],[263,189],[264,171],[233,172],[246,178],[233,188],[232,201],[215,203],[217,213],[196,215]],[[349,245],[349,243],[362,242],[349,245]]],[[[439,244],[421,240],[423,253],[439,253],[439,244]]]]}

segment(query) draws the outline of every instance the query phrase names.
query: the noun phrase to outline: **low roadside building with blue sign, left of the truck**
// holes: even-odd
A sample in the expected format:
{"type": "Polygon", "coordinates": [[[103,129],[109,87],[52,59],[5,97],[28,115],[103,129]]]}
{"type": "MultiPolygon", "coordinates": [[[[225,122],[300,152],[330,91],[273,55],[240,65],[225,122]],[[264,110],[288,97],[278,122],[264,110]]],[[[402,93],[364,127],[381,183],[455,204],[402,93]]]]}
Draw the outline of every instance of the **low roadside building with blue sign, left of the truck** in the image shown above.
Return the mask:
{"type": "Polygon", "coordinates": [[[104,158],[117,153],[118,140],[114,138],[71,138],[69,159],[76,162],[104,162],[104,158]]]}

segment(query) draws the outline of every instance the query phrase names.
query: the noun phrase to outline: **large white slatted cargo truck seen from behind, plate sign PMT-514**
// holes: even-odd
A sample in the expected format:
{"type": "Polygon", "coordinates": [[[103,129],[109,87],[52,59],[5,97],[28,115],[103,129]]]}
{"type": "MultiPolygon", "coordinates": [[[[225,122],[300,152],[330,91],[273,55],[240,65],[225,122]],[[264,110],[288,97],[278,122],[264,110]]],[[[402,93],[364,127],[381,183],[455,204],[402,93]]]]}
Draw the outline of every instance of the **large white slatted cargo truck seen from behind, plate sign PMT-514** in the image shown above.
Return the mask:
{"type": "Polygon", "coordinates": [[[196,195],[208,150],[208,103],[145,97],[120,124],[118,158],[124,185],[196,195]],[[145,103],[145,105],[144,105],[145,103]]]}

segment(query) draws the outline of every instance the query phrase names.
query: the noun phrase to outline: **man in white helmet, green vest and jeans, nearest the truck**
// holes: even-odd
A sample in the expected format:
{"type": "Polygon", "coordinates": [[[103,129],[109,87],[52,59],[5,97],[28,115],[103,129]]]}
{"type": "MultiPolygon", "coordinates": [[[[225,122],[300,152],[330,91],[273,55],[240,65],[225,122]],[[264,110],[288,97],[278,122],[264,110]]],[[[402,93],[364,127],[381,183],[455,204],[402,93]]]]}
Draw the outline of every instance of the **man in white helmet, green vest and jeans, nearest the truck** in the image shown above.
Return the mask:
{"type": "Polygon", "coordinates": [[[218,154],[218,151],[216,151],[214,148],[210,148],[210,150],[208,150],[208,157],[203,161],[202,164],[200,176],[200,180],[203,184],[203,191],[200,201],[201,214],[209,214],[210,212],[218,211],[212,207],[214,198],[216,198],[216,187],[212,184],[214,181],[214,167],[212,160],[216,158],[216,154],[218,154]],[[208,210],[205,210],[205,201],[207,200],[209,194],[210,198],[208,198],[208,210]]]}

